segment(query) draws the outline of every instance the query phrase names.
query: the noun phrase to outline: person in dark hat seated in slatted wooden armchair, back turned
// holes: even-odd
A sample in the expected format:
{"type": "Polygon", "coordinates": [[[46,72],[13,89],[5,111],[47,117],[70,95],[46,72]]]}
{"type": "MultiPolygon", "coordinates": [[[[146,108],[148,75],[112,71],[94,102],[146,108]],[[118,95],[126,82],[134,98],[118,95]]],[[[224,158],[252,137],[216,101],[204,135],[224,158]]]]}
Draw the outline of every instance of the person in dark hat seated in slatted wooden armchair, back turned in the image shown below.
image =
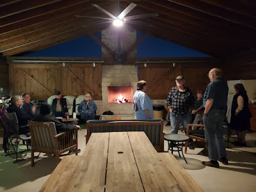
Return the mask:
{"type": "MultiPolygon", "coordinates": [[[[40,115],[36,116],[34,121],[35,122],[54,122],[57,133],[69,131],[72,129],[79,129],[81,130],[79,125],[76,125],[78,122],[74,121],[72,124],[67,125],[63,124],[56,118],[54,115],[50,115],[51,113],[51,105],[47,103],[42,103],[40,107],[40,115]]],[[[81,152],[80,149],[77,152],[81,152]]],[[[74,151],[69,151],[68,154],[74,154],[74,151]]]]}

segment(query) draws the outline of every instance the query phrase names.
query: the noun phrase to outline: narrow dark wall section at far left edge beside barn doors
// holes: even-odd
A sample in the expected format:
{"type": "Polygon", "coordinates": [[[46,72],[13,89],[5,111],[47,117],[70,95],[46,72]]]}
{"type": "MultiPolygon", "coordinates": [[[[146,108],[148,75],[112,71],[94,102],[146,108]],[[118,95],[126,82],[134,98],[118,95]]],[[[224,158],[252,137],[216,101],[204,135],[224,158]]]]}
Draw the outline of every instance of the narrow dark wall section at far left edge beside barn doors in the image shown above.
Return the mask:
{"type": "Polygon", "coordinates": [[[9,72],[6,58],[0,56],[0,87],[3,92],[0,92],[0,97],[9,95],[9,72]]]}

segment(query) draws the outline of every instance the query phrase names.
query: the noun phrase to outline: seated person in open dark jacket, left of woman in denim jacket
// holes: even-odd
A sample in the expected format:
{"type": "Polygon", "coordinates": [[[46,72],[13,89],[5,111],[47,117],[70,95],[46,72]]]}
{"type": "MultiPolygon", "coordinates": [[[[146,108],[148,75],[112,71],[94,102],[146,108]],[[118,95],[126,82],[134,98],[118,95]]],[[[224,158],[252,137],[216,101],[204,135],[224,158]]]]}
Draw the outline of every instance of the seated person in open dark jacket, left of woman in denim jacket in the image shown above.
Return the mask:
{"type": "Polygon", "coordinates": [[[71,108],[71,105],[67,99],[61,96],[60,91],[56,91],[55,94],[57,98],[52,100],[52,114],[66,118],[65,113],[68,113],[68,109],[71,108]]]}

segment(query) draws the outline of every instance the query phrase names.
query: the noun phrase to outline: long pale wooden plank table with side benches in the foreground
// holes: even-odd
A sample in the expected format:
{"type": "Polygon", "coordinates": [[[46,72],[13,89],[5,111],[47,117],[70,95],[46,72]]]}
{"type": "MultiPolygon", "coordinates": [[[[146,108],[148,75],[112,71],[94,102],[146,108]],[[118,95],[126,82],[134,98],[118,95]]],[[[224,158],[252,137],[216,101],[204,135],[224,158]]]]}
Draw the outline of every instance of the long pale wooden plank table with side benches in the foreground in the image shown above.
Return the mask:
{"type": "Polygon", "coordinates": [[[145,132],[93,133],[83,156],[63,157],[40,191],[202,191],[145,132]]]}

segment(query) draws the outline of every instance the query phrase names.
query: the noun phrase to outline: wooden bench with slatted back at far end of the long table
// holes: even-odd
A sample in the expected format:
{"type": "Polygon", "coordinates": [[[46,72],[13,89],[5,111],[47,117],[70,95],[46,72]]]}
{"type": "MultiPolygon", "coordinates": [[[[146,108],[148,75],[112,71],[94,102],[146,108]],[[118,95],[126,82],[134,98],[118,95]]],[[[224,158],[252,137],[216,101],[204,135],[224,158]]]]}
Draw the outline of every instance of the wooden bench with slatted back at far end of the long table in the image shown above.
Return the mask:
{"type": "Polygon", "coordinates": [[[93,132],[144,131],[156,148],[164,151],[164,133],[162,119],[156,120],[88,120],[86,122],[86,143],[93,132]]]}

